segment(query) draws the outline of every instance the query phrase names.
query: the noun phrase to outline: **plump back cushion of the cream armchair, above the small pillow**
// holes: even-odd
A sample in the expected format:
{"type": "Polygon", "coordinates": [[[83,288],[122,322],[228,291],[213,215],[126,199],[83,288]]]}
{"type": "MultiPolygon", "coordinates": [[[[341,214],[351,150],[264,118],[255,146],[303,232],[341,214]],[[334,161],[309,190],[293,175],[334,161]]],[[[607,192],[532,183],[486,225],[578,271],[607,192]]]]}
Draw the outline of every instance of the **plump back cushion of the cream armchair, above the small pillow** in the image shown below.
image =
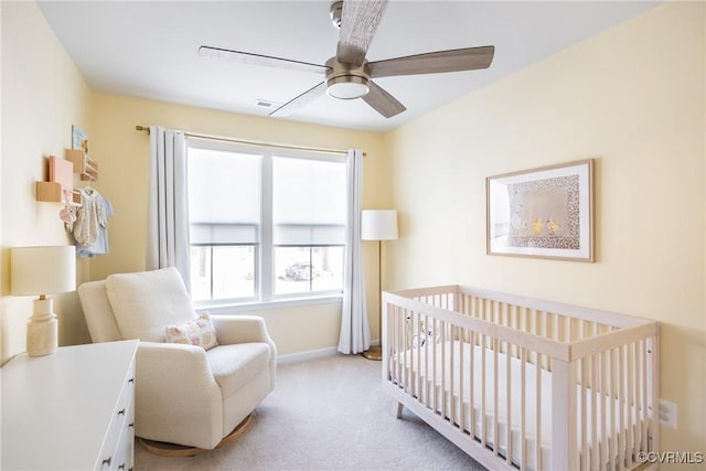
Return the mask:
{"type": "Polygon", "coordinates": [[[122,339],[164,342],[164,328],[196,318],[184,282],[175,268],[117,274],[106,289],[122,339]]]}

